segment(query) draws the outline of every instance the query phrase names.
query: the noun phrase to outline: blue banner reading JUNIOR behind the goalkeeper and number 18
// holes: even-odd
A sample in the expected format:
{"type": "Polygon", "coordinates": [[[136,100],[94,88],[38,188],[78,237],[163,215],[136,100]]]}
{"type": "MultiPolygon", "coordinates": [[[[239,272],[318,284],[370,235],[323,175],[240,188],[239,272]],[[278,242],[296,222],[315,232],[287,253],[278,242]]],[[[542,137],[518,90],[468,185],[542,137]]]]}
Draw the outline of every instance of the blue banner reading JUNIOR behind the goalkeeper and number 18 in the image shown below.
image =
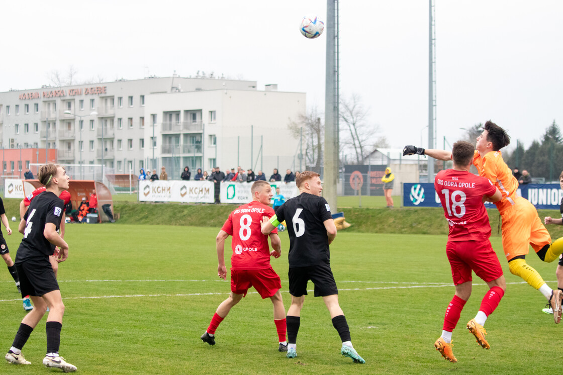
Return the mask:
{"type": "MultiPolygon", "coordinates": [[[[563,190],[558,184],[520,185],[517,191],[520,197],[528,199],[537,209],[559,209],[563,190]]],[[[487,208],[492,204],[485,203],[487,208]]],[[[440,199],[434,190],[434,184],[403,184],[404,207],[441,207],[440,199]]]]}

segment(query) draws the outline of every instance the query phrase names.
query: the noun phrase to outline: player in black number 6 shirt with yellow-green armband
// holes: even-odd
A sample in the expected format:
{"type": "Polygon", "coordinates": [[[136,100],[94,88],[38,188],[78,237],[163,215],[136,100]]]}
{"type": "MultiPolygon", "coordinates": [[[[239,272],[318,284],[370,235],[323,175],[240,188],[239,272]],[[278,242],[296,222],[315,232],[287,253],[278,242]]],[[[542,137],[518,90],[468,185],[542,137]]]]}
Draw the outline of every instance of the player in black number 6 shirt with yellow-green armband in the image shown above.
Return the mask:
{"type": "Polygon", "coordinates": [[[289,233],[291,306],[286,318],[287,358],[297,356],[301,308],[307,295],[307,282],[311,280],[315,285],[315,297],[323,297],[332,324],[340,335],[342,355],[350,357],[355,363],[365,363],[352,346],[348,323],[338,305],[338,288],[330,269],[329,251],[329,244],[336,238],[336,226],[327,200],[320,196],[323,186],[319,177],[319,173],[311,171],[300,173],[296,180],[300,195],[288,199],[270,220],[266,217],[262,220],[263,234],[270,234],[284,220],[289,233]]]}

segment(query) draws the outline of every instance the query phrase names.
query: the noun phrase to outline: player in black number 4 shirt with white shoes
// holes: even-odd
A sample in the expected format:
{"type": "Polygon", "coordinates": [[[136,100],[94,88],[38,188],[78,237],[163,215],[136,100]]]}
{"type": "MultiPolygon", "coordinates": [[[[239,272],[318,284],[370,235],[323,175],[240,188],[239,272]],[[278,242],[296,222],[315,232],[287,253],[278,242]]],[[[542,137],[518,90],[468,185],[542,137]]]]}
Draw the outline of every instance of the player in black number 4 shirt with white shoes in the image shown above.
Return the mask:
{"type": "Polygon", "coordinates": [[[29,294],[33,309],[25,315],[17,330],[14,343],[6,354],[6,360],[13,364],[30,364],[21,349],[29,335],[50,308],[47,316],[47,355],[43,359],[45,367],[56,367],[64,372],[76,371],[76,367],[66,363],[59,356],[61,341],[62,315],[65,306],[61,291],[51,267],[49,257],[57,251],[59,261],[68,257],[69,246],[59,235],[64,204],[59,198],[62,190],[69,187],[69,176],[64,168],[55,164],[46,164],[39,169],[39,182],[46,191],[39,194],[29,205],[20,222],[19,231],[24,235],[16,253],[16,268],[20,277],[21,295],[29,294]]]}

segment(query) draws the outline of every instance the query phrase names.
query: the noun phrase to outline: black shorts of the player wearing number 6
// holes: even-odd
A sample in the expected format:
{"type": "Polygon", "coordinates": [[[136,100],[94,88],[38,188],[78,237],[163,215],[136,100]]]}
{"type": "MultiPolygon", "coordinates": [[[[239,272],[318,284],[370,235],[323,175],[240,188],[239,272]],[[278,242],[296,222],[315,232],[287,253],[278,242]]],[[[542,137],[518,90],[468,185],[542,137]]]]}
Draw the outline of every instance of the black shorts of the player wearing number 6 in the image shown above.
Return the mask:
{"type": "Polygon", "coordinates": [[[315,297],[338,294],[338,288],[329,265],[295,267],[289,269],[289,293],[294,297],[307,295],[307,282],[315,285],[315,297]]]}

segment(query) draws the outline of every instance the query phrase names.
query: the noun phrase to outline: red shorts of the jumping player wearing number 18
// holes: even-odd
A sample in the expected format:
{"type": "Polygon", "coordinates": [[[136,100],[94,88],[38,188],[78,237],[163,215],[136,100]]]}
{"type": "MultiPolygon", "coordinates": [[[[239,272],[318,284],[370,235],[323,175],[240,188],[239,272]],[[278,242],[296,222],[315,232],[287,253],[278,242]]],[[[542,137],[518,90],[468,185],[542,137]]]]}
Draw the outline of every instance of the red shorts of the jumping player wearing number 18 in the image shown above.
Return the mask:
{"type": "Polygon", "coordinates": [[[452,267],[454,285],[472,281],[471,270],[485,282],[502,276],[501,262],[489,240],[448,241],[446,254],[452,267]]]}

